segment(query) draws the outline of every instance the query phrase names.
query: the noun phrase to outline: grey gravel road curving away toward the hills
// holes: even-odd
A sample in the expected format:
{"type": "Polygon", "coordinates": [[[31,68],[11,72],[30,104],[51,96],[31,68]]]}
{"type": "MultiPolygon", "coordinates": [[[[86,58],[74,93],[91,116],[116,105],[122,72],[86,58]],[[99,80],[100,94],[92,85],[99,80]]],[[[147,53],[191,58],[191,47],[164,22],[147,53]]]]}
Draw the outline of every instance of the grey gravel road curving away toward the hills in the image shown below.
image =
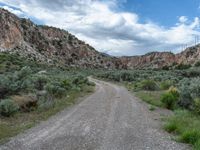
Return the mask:
{"type": "Polygon", "coordinates": [[[188,150],[124,87],[92,79],[94,94],[0,146],[1,150],[188,150]]]}

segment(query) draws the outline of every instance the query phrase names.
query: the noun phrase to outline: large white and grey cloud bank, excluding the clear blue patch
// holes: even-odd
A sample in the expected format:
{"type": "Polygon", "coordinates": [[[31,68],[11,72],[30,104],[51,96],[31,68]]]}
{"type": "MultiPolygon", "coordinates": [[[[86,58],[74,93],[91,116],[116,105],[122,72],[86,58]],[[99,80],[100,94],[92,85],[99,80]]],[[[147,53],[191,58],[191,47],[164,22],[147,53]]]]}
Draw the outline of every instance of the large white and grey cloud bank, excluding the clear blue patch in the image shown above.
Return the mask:
{"type": "MultiPolygon", "coordinates": [[[[178,51],[200,35],[199,18],[181,16],[177,24],[164,28],[153,22],[140,23],[135,13],[119,12],[119,0],[0,0],[45,24],[69,30],[99,51],[114,55],[144,54],[149,50],[178,51]]],[[[125,0],[121,0],[121,3],[125,0]]]]}

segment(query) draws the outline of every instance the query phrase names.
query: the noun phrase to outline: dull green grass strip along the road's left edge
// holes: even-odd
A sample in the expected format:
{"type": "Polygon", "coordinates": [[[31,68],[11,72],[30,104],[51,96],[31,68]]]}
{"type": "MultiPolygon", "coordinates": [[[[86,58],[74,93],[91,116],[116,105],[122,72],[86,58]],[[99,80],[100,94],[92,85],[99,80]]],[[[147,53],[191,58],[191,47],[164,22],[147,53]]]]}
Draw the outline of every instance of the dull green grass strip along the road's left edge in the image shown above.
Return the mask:
{"type": "Polygon", "coordinates": [[[94,91],[94,86],[84,86],[82,90],[71,90],[68,95],[62,99],[56,99],[55,104],[48,109],[38,109],[28,113],[17,113],[13,117],[0,117],[0,144],[5,143],[10,137],[25,131],[39,123],[47,120],[50,116],[64,108],[77,102],[78,97],[83,97],[94,91]]]}

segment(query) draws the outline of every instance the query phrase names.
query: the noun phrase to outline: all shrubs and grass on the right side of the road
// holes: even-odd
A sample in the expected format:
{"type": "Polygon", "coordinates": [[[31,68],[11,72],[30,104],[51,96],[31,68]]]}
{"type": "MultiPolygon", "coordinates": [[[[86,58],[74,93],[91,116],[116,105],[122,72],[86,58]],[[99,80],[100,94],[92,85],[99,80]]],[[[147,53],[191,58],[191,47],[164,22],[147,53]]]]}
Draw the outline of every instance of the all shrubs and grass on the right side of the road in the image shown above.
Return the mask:
{"type": "Polygon", "coordinates": [[[200,68],[180,66],[174,70],[104,71],[97,78],[123,83],[150,104],[150,111],[163,107],[174,111],[164,129],[180,142],[200,150],[200,68]]]}

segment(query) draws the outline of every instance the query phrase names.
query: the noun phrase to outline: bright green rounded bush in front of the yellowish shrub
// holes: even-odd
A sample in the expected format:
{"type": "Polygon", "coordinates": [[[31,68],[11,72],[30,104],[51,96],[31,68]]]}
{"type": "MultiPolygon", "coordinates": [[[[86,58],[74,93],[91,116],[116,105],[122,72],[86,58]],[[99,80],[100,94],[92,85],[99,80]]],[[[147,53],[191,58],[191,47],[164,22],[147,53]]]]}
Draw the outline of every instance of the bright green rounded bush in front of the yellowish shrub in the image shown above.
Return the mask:
{"type": "Polygon", "coordinates": [[[174,106],[177,101],[178,101],[178,98],[170,92],[163,94],[161,98],[161,102],[164,104],[164,106],[167,109],[174,109],[174,106]]]}

